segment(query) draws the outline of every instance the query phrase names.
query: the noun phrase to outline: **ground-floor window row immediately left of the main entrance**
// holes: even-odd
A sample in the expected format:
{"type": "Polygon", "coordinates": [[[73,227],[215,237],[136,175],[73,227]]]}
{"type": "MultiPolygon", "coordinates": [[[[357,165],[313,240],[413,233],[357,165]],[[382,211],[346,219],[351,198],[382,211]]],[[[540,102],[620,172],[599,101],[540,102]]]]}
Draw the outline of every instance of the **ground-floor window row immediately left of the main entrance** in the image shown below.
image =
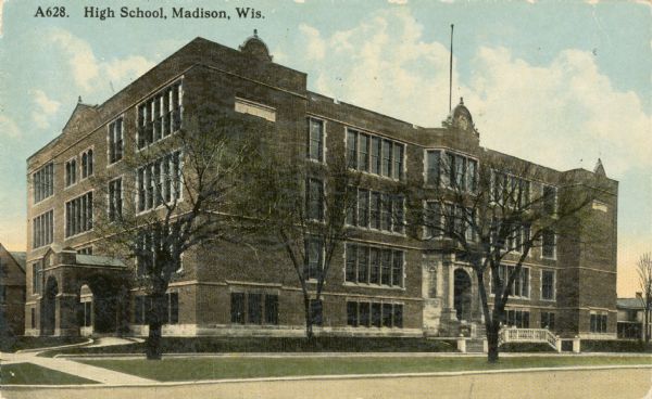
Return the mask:
{"type": "Polygon", "coordinates": [[[347,301],[347,325],[353,327],[403,327],[403,305],[347,301]]]}

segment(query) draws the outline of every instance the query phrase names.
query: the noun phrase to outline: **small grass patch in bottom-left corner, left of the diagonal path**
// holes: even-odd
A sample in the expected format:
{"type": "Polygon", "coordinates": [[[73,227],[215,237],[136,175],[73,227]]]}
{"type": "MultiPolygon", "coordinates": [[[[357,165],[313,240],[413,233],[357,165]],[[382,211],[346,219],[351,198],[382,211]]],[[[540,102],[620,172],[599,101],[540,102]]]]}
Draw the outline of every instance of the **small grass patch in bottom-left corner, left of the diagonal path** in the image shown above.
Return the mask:
{"type": "Polygon", "coordinates": [[[65,385],[97,384],[95,381],[62,373],[57,370],[41,368],[32,363],[3,364],[0,368],[1,385],[65,385]]]}

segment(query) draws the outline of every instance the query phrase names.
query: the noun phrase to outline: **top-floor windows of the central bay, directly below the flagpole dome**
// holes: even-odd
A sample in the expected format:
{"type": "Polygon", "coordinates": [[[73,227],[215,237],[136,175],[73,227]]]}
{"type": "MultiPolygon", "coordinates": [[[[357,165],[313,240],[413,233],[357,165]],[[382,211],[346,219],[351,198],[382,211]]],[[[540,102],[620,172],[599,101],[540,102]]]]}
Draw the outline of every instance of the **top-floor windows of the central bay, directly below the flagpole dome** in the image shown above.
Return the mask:
{"type": "Polygon", "coordinates": [[[448,186],[460,191],[477,190],[478,162],[468,156],[443,150],[427,152],[426,183],[448,186]]]}

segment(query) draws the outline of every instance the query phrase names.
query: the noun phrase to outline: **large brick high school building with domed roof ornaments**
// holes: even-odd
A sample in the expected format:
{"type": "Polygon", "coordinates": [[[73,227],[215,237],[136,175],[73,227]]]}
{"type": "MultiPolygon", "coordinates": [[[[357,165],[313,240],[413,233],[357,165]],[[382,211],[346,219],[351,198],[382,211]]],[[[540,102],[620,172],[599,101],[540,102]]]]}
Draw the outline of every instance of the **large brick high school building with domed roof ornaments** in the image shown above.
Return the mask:
{"type": "MultiPolygon", "coordinates": [[[[524,263],[505,322],[565,336],[615,336],[617,182],[601,165],[594,172],[531,165],[481,147],[463,104],[443,127],[422,128],[311,92],[306,78],[275,64],[255,35],[239,50],[197,38],[103,104],[79,102],[62,133],[27,159],[26,334],[147,333],[147,297],[133,265],[103,252],[93,218],[116,211],[127,201],[127,180],[142,178],[125,168],[123,156],[156,145],[193,118],[224,112],[274,126],[277,141],[306,163],[347,151],[356,159],[351,167],[366,177],[367,186],[356,189],[354,237],[335,255],[317,334],[479,334],[477,282],[467,265],[381,217],[414,206],[411,198],[392,196],[391,209],[379,208],[404,181],[434,189],[432,173],[443,179],[448,171],[430,159],[450,156],[463,173],[488,158],[530,165],[543,176],[527,181],[532,195],[549,191],[554,198],[581,190],[593,173],[604,177],[610,190],[575,228],[577,237],[590,228],[606,241],[595,248],[549,237],[524,263]],[[143,129],[153,136],[143,137],[143,129]],[[106,195],[95,185],[98,171],[115,176],[106,195]]],[[[176,168],[177,156],[161,167],[176,168]]],[[[189,250],[170,285],[163,334],[301,335],[301,300],[283,254],[254,259],[237,246],[189,250]]]]}

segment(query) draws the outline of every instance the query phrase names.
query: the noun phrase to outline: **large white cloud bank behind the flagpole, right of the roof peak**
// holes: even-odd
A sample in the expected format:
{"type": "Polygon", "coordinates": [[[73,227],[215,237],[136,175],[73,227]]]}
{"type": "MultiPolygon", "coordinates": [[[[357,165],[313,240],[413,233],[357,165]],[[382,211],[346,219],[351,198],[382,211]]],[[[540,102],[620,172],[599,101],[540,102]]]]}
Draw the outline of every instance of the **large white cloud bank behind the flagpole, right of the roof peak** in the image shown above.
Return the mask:
{"type": "MultiPolygon", "coordinates": [[[[374,13],[329,37],[303,29],[313,33],[309,57],[339,60],[313,75],[317,91],[422,126],[446,118],[449,50],[425,40],[406,9],[374,13]]],[[[468,81],[453,70],[453,98],[464,96],[482,145],[562,170],[591,170],[601,156],[615,178],[652,166],[652,117],[636,93],[614,88],[589,51],[534,65],[504,48],[480,48],[473,65],[468,81]]]]}

